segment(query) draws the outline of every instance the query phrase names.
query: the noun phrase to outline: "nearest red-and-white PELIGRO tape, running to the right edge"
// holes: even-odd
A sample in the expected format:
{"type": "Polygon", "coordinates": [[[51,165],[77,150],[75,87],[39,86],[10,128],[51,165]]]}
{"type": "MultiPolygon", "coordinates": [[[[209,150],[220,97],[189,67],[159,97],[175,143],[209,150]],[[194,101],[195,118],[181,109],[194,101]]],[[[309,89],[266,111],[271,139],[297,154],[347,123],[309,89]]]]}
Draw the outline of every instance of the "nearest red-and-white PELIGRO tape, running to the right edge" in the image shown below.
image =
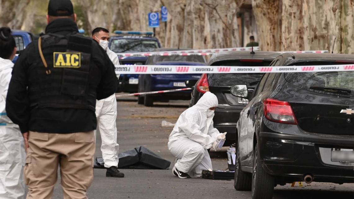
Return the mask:
{"type": "Polygon", "coordinates": [[[201,73],[298,73],[354,71],[354,64],[317,66],[163,66],[120,65],[119,74],[201,74],[201,73]]]}

